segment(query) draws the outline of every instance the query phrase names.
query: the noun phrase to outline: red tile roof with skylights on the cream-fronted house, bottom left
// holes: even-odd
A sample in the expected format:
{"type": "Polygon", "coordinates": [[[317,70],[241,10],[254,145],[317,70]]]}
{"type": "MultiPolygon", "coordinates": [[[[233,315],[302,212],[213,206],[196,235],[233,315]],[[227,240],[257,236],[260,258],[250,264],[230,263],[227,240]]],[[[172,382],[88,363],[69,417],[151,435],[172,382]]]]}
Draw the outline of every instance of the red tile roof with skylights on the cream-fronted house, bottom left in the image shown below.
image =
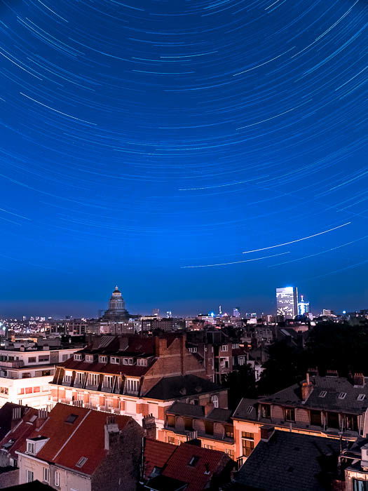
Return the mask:
{"type": "MultiPolygon", "coordinates": [[[[120,415],[114,418],[119,429],[123,429],[132,420],[128,416],[120,415]]],[[[68,469],[93,474],[107,455],[107,450],[104,449],[106,421],[107,413],[58,403],[46,422],[30,435],[30,438],[48,438],[36,457],[68,469]],[[74,423],[67,423],[66,419],[71,414],[77,418],[74,423]],[[87,461],[83,466],[77,467],[76,464],[81,457],[86,457],[87,461]]],[[[25,445],[22,445],[21,452],[25,450],[25,445]]]]}

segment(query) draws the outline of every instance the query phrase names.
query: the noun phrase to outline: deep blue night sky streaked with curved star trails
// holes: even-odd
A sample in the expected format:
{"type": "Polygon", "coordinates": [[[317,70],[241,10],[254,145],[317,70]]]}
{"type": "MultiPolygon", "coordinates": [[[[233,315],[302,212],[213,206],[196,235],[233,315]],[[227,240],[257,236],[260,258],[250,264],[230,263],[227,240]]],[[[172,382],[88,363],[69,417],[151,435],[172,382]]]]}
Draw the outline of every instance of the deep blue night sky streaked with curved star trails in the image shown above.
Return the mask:
{"type": "Polygon", "coordinates": [[[0,316],[367,308],[367,13],[1,1],[0,316]]]}

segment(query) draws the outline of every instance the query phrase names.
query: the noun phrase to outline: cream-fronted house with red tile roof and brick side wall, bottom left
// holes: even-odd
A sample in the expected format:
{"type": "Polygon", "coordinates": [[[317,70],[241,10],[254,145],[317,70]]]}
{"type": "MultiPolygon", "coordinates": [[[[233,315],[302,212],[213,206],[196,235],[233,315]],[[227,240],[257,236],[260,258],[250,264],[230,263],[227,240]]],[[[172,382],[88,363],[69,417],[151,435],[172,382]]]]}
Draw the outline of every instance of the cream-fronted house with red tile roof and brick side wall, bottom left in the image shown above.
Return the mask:
{"type": "Polygon", "coordinates": [[[57,404],[22,438],[19,484],[39,480],[59,491],[137,488],[143,430],[132,418],[57,404]]]}

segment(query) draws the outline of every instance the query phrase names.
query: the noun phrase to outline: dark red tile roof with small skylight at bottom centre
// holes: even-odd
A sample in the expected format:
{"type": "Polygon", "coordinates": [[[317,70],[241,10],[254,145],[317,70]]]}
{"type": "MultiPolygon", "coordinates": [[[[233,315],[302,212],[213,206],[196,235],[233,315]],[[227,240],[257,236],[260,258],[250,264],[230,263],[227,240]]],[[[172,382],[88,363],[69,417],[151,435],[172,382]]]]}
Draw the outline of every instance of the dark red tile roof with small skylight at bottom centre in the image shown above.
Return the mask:
{"type": "Polygon", "coordinates": [[[201,448],[191,443],[179,446],[154,440],[146,440],[144,449],[146,468],[145,478],[154,466],[163,468],[163,476],[175,478],[188,483],[186,491],[201,491],[205,489],[212,476],[221,472],[231,459],[224,452],[201,448]],[[198,457],[196,465],[190,466],[192,457],[198,457]]]}

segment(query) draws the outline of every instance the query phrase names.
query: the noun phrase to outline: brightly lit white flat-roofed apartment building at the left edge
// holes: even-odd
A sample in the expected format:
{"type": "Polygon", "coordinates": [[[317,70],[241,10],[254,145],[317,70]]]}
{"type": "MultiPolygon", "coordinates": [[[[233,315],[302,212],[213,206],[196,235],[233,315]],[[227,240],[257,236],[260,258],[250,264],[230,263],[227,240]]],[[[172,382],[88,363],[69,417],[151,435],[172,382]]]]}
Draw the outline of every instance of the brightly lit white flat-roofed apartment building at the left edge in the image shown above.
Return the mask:
{"type": "Polygon", "coordinates": [[[45,407],[57,365],[80,348],[26,342],[0,349],[0,407],[7,402],[45,407]]]}

